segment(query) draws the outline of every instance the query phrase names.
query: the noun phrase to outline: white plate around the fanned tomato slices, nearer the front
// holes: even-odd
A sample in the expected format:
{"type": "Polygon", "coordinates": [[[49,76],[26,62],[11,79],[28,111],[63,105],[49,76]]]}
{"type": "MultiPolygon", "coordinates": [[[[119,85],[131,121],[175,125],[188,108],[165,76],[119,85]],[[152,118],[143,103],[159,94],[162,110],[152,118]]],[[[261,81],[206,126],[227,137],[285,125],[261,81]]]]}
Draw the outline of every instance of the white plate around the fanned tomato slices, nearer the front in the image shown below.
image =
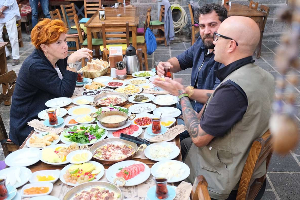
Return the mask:
{"type": "MultiPolygon", "coordinates": [[[[145,163],[135,161],[135,160],[125,160],[125,161],[121,161],[121,162],[115,163],[112,166],[110,166],[106,172],[107,180],[109,182],[113,183],[113,180],[115,178],[117,178],[116,173],[120,172],[120,170],[119,170],[120,167],[125,168],[125,167],[131,166],[133,164],[143,164],[145,166],[144,172],[140,172],[140,174],[125,181],[125,187],[134,186],[134,185],[138,185],[138,184],[145,182],[150,176],[150,168],[145,163]]],[[[116,181],[116,182],[117,182],[117,184],[121,183],[121,181],[116,181]]]]}

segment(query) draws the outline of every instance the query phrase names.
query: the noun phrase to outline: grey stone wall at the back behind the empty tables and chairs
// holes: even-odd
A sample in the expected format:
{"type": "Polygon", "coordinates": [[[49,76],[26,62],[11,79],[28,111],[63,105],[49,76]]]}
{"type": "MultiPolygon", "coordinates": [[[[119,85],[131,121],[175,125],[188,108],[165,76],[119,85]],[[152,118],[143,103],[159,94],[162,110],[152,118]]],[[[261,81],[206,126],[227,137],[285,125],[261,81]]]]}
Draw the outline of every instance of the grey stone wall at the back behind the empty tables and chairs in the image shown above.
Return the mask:
{"type": "MultiPolygon", "coordinates": [[[[180,4],[182,7],[184,7],[184,10],[187,13],[187,25],[183,29],[181,33],[178,34],[190,34],[191,32],[191,22],[190,22],[190,12],[188,9],[188,2],[190,0],[176,0],[172,1],[169,0],[171,4],[180,4]]],[[[197,1],[197,0],[194,0],[197,1]]],[[[199,0],[198,4],[202,6],[205,3],[222,3],[222,0],[199,0]]],[[[265,30],[263,34],[263,39],[271,39],[271,38],[279,38],[280,35],[287,30],[287,26],[284,22],[281,22],[278,19],[278,15],[280,14],[281,10],[286,8],[286,0],[264,0],[264,1],[258,1],[259,6],[260,4],[264,4],[268,7],[270,7],[270,13],[265,25],[265,30]]],[[[231,3],[239,3],[243,5],[249,5],[249,0],[231,0],[231,3]]],[[[152,20],[158,20],[158,8],[157,8],[157,0],[131,0],[131,4],[140,7],[140,20],[139,20],[139,27],[143,27],[143,21],[145,21],[147,9],[149,6],[152,7],[151,10],[151,18],[152,20]]],[[[258,7],[259,7],[258,6],[258,7]]],[[[178,10],[177,10],[178,11],[178,10]]],[[[176,10],[173,10],[173,19],[176,19],[178,17],[178,12],[176,10]]],[[[180,14],[180,12],[179,12],[180,14]]],[[[177,18],[178,19],[178,18],[177,18]]]]}

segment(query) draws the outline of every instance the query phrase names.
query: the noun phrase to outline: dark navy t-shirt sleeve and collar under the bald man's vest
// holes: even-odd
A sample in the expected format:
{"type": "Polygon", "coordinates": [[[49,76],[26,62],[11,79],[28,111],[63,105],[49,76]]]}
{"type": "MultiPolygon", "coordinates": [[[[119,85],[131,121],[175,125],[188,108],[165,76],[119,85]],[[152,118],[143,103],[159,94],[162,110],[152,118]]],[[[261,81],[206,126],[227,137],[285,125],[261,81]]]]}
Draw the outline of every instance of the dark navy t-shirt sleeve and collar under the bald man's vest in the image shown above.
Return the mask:
{"type": "MultiPolygon", "coordinates": [[[[220,70],[216,74],[223,81],[238,68],[254,62],[252,56],[242,58],[220,70]]],[[[200,127],[214,137],[223,137],[231,127],[241,121],[248,107],[245,92],[235,82],[227,80],[215,91],[200,120],[200,127]]]]}

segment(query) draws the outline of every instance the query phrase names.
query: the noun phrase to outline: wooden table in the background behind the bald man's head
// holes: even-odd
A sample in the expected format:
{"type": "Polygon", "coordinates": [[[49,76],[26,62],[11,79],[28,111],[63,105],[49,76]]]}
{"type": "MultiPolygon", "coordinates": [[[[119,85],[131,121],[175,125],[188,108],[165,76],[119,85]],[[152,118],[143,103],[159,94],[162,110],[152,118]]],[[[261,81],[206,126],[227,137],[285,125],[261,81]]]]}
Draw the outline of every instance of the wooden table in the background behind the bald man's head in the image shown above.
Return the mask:
{"type": "Polygon", "coordinates": [[[260,40],[258,45],[256,46],[256,58],[260,57],[260,52],[261,52],[261,47],[262,47],[262,24],[263,24],[263,19],[266,16],[266,13],[263,13],[259,10],[254,10],[250,8],[249,6],[246,5],[241,5],[241,4],[231,4],[231,6],[225,5],[228,13],[227,17],[230,16],[245,16],[245,17],[250,17],[253,19],[259,26],[260,29],[260,40]]]}

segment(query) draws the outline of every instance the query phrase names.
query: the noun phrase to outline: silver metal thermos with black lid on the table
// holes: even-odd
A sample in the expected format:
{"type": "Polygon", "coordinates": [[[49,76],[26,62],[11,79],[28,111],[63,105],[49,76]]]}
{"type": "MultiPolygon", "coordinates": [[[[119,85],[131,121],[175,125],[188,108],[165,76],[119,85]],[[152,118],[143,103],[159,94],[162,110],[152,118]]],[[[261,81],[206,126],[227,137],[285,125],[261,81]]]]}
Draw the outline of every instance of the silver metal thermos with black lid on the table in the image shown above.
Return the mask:
{"type": "Polygon", "coordinates": [[[137,51],[132,45],[126,48],[124,61],[126,62],[127,74],[140,71],[140,61],[137,57],[137,51]]]}

